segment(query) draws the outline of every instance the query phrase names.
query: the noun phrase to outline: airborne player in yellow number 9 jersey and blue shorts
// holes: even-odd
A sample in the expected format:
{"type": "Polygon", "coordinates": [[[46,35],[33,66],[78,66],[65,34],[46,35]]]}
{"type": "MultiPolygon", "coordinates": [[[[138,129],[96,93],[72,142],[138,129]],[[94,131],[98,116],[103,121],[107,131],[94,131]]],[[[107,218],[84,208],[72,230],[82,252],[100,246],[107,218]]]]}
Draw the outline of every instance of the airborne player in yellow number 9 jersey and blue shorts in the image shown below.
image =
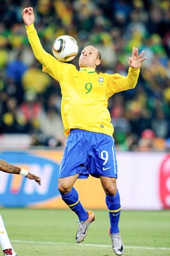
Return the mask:
{"type": "Polygon", "coordinates": [[[43,49],[34,28],[32,7],[23,10],[22,18],[32,51],[43,65],[43,72],[50,74],[60,83],[61,115],[67,143],[60,164],[58,188],[62,200],[79,218],[76,243],[85,239],[95,216],[93,212],[83,208],[78,192],[73,186],[76,179],[85,179],[92,175],[101,180],[106,193],[110,217],[108,234],[111,237],[113,252],[122,255],[124,246],[118,228],[121,206],[117,189],[117,158],[113,125],[107,107],[108,99],[114,93],[136,86],[139,68],[146,59],[143,57],[144,51],[138,54],[138,49],[133,47],[127,76],[97,74],[96,67],[101,63],[101,54],[90,45],[81,51],[80,70],[77,70],[74,65],[60,62],[43,49]]]}

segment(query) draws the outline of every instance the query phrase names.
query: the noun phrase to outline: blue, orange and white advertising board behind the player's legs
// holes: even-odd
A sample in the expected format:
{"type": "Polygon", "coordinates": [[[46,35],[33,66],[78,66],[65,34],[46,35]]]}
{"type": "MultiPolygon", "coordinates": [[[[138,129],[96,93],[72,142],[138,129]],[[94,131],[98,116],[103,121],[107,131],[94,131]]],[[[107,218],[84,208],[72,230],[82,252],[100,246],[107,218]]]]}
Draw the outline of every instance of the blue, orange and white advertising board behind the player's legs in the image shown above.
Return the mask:
{"type": "MultiPolygon", "coordinates": [[[[21,175],[0,172],[1,207],[67,209],[57,189],[63,151],[30,150],[0,152],[0,159],[41,177],[41,186],[21,175]]],[[[170,209],[170,154],[166,152],[117,152],[117,186],[122,209],[170,209]]],[[[75,184],[86,209],[106,209],[99,179],[75,184]]]]}

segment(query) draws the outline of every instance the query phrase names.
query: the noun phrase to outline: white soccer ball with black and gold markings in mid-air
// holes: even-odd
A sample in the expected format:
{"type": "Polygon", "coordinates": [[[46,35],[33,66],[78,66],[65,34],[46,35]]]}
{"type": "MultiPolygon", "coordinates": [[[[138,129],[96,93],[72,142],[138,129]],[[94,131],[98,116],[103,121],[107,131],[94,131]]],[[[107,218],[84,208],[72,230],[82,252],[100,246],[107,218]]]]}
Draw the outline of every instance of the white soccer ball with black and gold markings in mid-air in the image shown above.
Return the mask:
{"type": "Polygon", "coordinates": [[[52,51],[55,58],[60,61],[71,61],[78,53],[78,45],[72,36],[59,36],[52,45],[52,51]]]}

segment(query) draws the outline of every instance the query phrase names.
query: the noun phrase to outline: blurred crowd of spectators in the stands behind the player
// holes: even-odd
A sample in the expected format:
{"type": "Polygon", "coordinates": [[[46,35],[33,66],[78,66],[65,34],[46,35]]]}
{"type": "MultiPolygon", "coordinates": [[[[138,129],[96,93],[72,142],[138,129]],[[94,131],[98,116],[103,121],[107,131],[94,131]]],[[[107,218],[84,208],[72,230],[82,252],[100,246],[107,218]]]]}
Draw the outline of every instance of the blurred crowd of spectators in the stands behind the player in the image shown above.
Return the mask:
{"type": "MultiPolygon", "coordinates": [[[[60,86],[41,71],[22,21],[32,6],[44,49],[60,35],[94,45],[97,72],[127,75],[132,47],[145,51],[138,85],[110,98],[120,150],[170,150],[169,0],[6,0],[0,4],[0,134],[30,134],[31,146],[65,144],[60,86]]],[[[78,68],[78,56],[72,61],[78,68]]]]}

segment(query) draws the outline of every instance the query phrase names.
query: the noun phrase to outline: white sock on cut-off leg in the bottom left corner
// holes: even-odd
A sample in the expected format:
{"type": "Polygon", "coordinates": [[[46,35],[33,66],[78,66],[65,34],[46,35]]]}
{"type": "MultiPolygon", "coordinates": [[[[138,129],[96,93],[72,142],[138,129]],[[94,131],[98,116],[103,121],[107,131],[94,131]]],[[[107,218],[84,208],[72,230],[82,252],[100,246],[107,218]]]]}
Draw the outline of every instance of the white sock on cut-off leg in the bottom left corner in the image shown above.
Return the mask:
{"type": "Polygon", "coordinates": [[[4,221],[0,215],[0,245],[3,250],[6,249],[13,249],[11,246],[10,239],[8,237],[8,234],[6,232],[6,228],[4,227],[4,221]]]}

